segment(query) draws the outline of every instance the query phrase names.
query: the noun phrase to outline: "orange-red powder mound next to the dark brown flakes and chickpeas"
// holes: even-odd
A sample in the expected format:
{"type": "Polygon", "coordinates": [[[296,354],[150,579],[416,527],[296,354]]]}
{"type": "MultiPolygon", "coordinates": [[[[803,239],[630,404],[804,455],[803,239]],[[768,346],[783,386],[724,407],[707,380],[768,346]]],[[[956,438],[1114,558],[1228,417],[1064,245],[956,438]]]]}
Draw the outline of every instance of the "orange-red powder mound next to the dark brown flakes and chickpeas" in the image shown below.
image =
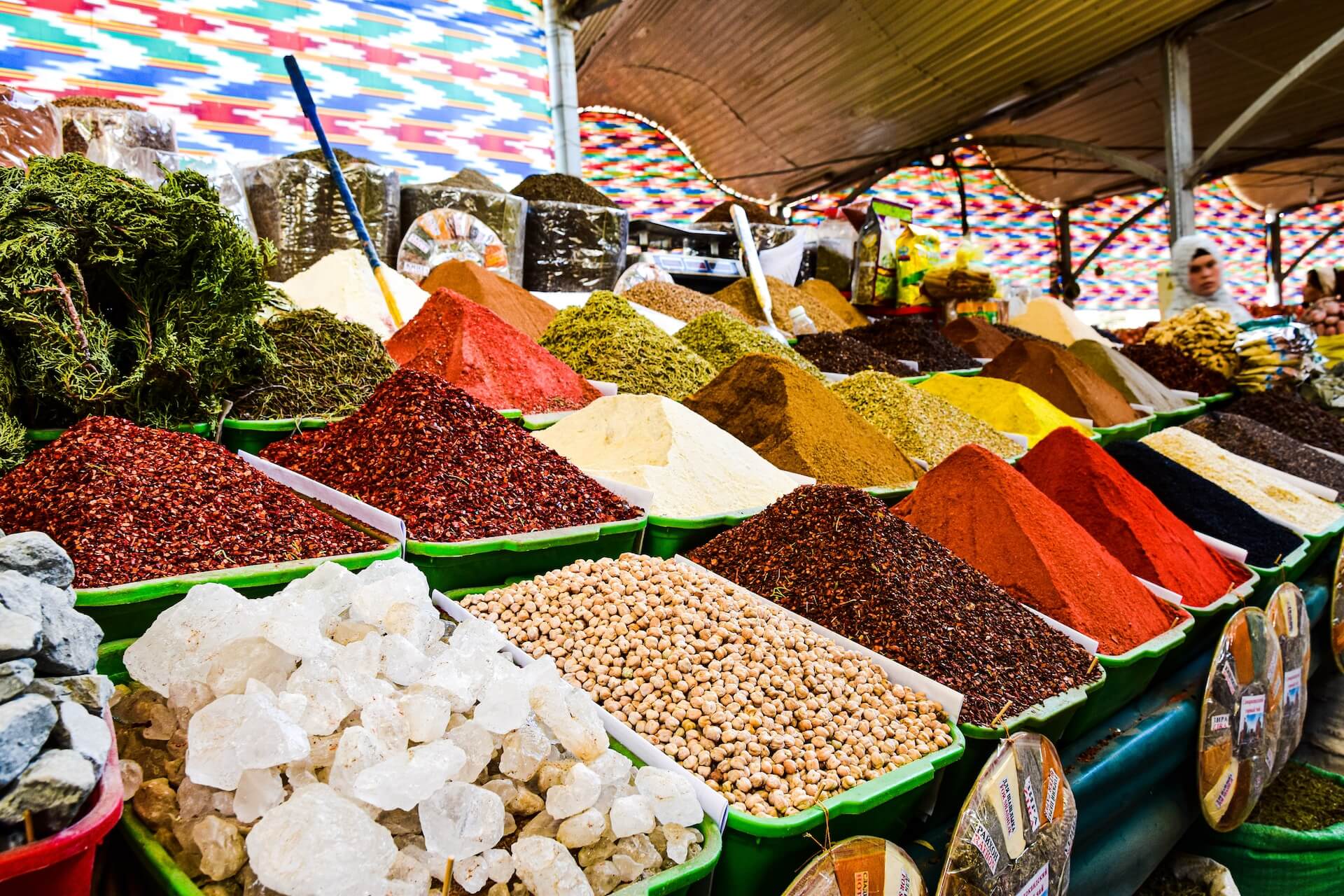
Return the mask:
{"type": "Polygon", "coordinates": [[[1058,504],[978,445],[929,470],[895,513],[1114,656],[1189,614],[1153,596],[1058,504]]]}

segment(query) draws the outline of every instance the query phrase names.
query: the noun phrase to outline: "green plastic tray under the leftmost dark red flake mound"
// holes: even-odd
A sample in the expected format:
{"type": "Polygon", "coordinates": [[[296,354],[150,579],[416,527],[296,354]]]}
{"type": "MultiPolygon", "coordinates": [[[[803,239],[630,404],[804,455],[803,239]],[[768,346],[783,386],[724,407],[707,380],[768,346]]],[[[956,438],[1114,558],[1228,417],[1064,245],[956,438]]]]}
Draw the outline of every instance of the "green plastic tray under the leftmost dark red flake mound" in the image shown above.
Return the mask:
{"type": "Polygon", "coordinates": [[[160,613],[181,600],[198,584],[215,582],[227,584],[247,598],[265,598],[269,594],[276,594],[294,579],[308,575],[328,560],[339,563],[347,570],[363,570],[375,560],[390,560],[401,555],[401,544],[392,543],[382,549],[363,553],[259,563],[233,570],[192,572],[191,575],[148,582],[128,582],[106,588],[77,588],[75,607],[98,623],[103,638],[134,638],[142,635],[160,613]]]}

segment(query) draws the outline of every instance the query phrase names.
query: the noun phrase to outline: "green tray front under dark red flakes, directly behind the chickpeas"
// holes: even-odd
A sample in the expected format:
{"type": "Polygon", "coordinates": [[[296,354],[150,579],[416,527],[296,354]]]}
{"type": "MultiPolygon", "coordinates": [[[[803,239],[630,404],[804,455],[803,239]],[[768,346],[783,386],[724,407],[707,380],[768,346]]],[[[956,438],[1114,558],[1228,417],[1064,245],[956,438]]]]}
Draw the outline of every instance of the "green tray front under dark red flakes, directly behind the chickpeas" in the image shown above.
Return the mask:
{"type": "Polygon", "coordinates": [[[421,568],[429,587],[454,591],[531,578],[574,560],[616,557],[640,549],[646,516],[470,541],[407,541],[406,559],[421,568]]]}

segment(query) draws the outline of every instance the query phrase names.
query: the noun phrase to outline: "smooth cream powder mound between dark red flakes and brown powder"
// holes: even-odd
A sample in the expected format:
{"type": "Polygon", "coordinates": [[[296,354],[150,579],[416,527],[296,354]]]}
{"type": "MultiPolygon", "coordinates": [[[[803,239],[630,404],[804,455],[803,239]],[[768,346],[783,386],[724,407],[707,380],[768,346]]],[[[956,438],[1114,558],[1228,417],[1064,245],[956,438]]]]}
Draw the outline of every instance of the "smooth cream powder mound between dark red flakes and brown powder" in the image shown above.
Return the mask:
{"type": "Polygon", "coordinates": [[[599,398],[536,433],[590,476],[653,492],[653,516],[732,513],[797,481],[688,407],[661,395],[599,398]]]}

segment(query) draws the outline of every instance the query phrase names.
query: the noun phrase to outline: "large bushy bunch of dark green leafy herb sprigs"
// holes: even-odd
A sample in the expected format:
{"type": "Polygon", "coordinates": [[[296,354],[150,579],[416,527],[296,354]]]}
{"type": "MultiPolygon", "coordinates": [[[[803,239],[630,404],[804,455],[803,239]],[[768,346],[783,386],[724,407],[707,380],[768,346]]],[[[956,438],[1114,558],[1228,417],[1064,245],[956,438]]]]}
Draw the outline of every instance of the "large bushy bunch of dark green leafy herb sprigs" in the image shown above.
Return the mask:
{"type": "Polygon", "coordinates": [[[277,363],[257,321],[269,244],[200,173],[165,177],[73,153],[0,169],[0,325],[30,424],[200,420],[277,363]]]}

